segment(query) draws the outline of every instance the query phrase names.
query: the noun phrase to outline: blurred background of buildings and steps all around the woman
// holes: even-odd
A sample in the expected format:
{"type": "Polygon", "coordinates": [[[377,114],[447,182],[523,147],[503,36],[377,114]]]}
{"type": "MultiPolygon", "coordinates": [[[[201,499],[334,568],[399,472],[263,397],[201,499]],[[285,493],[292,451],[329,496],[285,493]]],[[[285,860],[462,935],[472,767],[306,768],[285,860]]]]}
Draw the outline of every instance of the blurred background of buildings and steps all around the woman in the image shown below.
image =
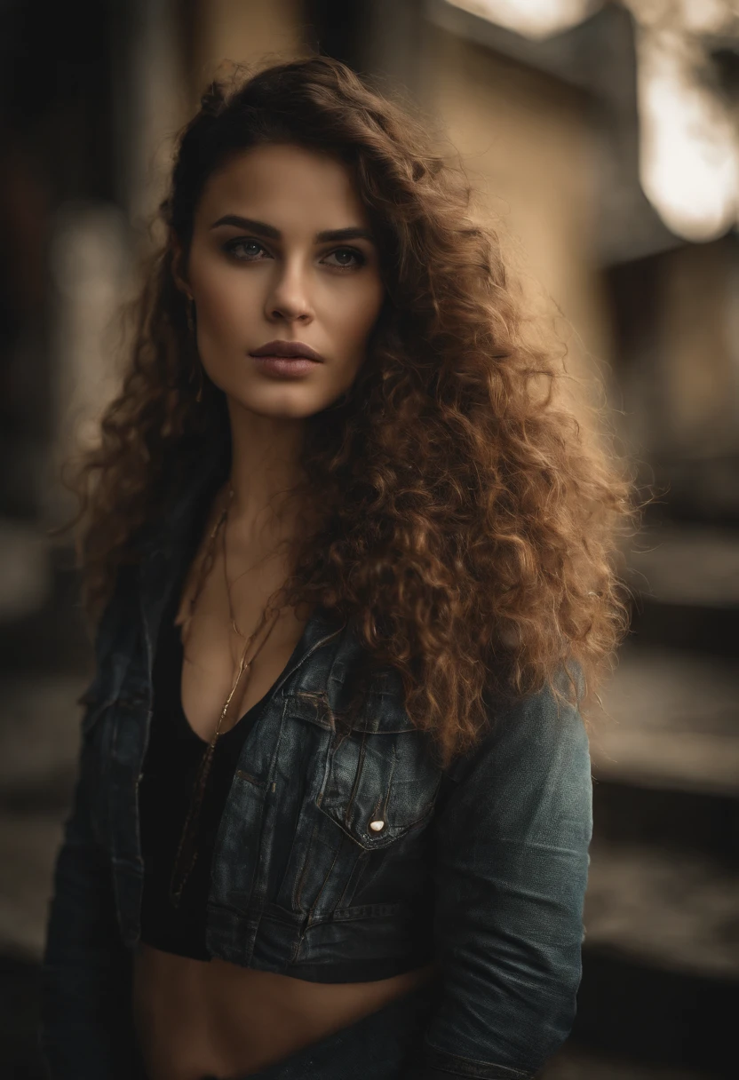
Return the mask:
{"type": "Polygon", "coordinates": [[[438,118],[617,449],[660,497],[591,741],[583,976],[547,1080],[737,1075],[738,0],[2,0],[0,1077],[44,1076],[38,961],[91,648],[66,454],[172,137],[226,60],[320,49],[438,118]]]}

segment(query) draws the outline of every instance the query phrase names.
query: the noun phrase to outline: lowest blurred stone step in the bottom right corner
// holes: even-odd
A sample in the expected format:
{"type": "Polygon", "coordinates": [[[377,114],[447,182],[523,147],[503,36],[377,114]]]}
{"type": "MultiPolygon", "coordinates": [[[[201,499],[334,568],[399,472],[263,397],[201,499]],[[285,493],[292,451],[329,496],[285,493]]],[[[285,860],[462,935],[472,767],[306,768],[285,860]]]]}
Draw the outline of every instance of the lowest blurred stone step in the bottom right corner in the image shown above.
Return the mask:
{"type": "Polygon", "coordinates": [[[593,841],[572,1044],[658,1076],[735,1076],[738,912],[736,862],[593,841]]]}

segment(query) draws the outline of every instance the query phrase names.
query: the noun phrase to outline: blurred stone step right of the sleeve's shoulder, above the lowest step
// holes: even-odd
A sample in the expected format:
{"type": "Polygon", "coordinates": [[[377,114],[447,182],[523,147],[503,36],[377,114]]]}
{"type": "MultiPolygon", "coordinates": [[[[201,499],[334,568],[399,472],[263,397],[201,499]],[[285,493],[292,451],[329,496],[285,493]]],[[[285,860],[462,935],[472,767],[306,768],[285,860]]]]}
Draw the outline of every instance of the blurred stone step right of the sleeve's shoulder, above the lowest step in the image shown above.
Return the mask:
{"type": "Polygon", "coordinates": [[[590,730],[595,838],[736,852],[736,663],[630,643],[601,697],[590,730]]]}

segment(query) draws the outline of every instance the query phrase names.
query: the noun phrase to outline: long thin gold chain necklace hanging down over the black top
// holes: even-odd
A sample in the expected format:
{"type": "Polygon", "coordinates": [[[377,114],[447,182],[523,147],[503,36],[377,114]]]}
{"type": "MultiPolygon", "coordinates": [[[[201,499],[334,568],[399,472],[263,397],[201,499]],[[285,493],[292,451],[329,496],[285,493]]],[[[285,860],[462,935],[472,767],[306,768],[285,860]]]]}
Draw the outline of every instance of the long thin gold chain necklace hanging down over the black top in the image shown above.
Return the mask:
{"type": "MultiPolygon", "coordinates": [[[[226,595],[228,597],[228,610],[229,610],[230,623],[231,623],[231,626],[233,627],[233,630],[236,631],[236,633],[239,635],[239,637],[241,637],[244,640],[244,647],[241,650],[241,656],[239,658],[239,665],[238,665],[238,670],[237,670],[236,680],[233,683],[233,686],[231,687],[231,690],[230,690],[230,692],[228,694],[228,698],[226,699],[226,702],[224,703],[224,706],[223,706],[223,708],[220,711],[220,715],[218,717],[218,723],[216,724],[215,731],[213,732],[211,741],[210,741],[210,743],[207,744],[207,746],[205,747],[205,750],[203,752],[203,756],[201,758],[200,766],[198,767],[198,774],[196,777],[196,781],[194,781],[194,784],[193,784],[193,787],[192,787],[192,795],[191,795],[191,798],[190,798],[190,807],[189,807],[189,810],[188,810],[188,813],[187,813],[187,818],[185,819],[185,825],[183,826],[182,836],[179,838],[179,843],[177,846],[177,853],[175,855],[174,866],[173,866],[173,869],[172,869],[172,878],[171,878],[171,881],[170,881],[170,900],[171,900],[172,904],[174,904],[175,907],[179,904],[179,901],[180,901],[180,897],[182,897],[182,894],[183,894],[183,889],[185,888],[185,883],[186,883],[187,879],[189,878],[189,876],[190,876],[190,874],[192,872],[192,868],[193,868],[193,866],[196,864],[197,858],[198,858],[198,827],[197,826],[198,826],[198,821],[200,819],[200,811],[201,811],[201,807],[202,807],[203,795],[205,794],[205,787],[206,787],[206,784],[207,784],[207,778],[209,778],[209,775],[211,773],[211,767],[213,765],[213,757],[214,757],[214,754],[215,754],[216,743],[218,742],[218,739],[220,738],[220,735],[223,733],[221,732],[221,727],[223,727],[223,723],[224,723],[224,719],[226,717],[226,714],[228,713],[228,706],[231,704],[231,700],[232,700],[233,694],[236,693],[237,688],[238,688],[238,686],[239,686],[239,684],[241,681],[241,676],[243,675],[243,673],[245,671],[248,671],[248,673],[251,675],[252,664],[253,664],[254,660],[257,658],[257,656],[259,654],[259,652],[261,651],[261,648],[264,647],[267,638],[269,637],[270,633],[272,632],[272,629],[274,627],[274,623],[277,622],[277,618],[280,615],[280,611],[282,610],[282,607],[274,608],[268,602],[267,605],[266,605],[266,607],[265,607],[265,609],[264,609],[264,611],[263,611],[263,613],[261,613],[261,617],[259,619],[259,622],[257,624],[256,630],[248,637],[245,637],[245,635],[239,630],[239,627],[237,625],[236,617],[233,615],[233,603],[232,603],[232,598],[231,598],[231,589],[230,589],[230,585],[229,585],[228,571],[227,571],[227,567],[226,567],[226,523],[228,521],[228,512],[229,512],[232,499],[233,499],[233,488],[229,484],[227,496],[226,496],[225,505],[224,505],[220,514],[218,515],[218,519],[217,519],[215,526],[211,530],[211,535],[209,537],[207,548],[206,548],[205,554],[204,554],[204,556],[203,556],[203,558],[201,561],[200,572],[199,572],[199,576],[198,576],[198,582],[197,582],[197,585],[196,585],[194,594],[193,594],[192,598],[190,599],[188,615],[187,615],[187,617],[186,617],[186,619],[184,621],[184,624],[183,624],[183,631],[185,632],[186,636],[189,637],[190,620],[192,619],[192,616],[194,613],[197,602],[198,602],[198,598],[200,596],[200,593],[202,592],[205,579],[207,578],[209,573],[213,569],[213,564],[215,562],[216,542],[217,542],[217,539],[218,539],[218,534],[220,532],[220,535],[221,535],[223,554],[224,554],[224,577],[225,577],[225,581],[226,581],[226,595]],[[246,653],[248,652],[250,646],[252,645],[254,638],[257,636],[257,634],[259,633],[259,631],[265,625],[265,623],[267,621],[268,613],[270,611],[272,611],[272,613],[274,616],[274,618],[272,619],[271,625],[269,626],[269,630],[267,631],[267,633],[265,634],[265,636],[261,639],[260,644],[258,645],[258,647],[257,647],[254,656],[247,661],[246,660],[246,653]]],[[[284,607],[284,605],[283,605],[283,607],[284,607]]]]}

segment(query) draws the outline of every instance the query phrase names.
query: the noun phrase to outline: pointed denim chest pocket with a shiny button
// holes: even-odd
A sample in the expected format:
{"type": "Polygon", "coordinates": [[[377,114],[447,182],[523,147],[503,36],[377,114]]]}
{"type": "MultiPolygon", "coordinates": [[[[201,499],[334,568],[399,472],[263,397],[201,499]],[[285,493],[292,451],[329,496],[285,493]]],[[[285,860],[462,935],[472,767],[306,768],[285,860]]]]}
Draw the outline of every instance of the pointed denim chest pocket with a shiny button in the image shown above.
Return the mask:
{"type": "Polygon", "coordinates": [[[317,804],[355,843],[379,851],[431,816],[440,780],[426,737],[380,713],[336,732],[317,804]]]}

